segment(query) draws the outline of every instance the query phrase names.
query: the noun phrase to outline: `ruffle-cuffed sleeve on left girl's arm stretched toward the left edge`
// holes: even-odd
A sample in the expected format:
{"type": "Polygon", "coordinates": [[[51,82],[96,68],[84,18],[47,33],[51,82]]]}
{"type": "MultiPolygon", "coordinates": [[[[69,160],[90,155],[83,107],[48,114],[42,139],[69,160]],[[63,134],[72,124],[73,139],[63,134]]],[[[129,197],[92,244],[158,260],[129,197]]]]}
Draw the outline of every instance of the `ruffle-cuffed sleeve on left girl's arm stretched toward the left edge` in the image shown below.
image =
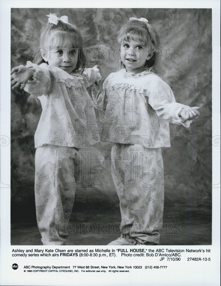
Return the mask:
{"type": "MultiPolygon", "coordinates": [[[[26,67],[34,70],[33,80],[29,80],[24,90],[32,96],[42,96],[49,94],[52,84],[52,74],[49,69],[44,68],[45,64],[38,66],[35,63],[27,61],[26,67]]],[[[46,66],[47,67],[47,66],[46,66]]]]}

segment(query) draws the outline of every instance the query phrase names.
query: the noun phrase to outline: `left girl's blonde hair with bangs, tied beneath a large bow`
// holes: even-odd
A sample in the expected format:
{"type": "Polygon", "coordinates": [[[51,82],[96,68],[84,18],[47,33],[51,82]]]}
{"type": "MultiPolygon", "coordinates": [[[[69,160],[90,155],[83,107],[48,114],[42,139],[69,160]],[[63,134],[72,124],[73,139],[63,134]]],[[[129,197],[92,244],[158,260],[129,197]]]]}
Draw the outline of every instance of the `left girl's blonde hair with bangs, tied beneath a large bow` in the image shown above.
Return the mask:
{"type": "MultiPolygon", "coordinates": [[[[42,27],[40,33],[40,49],[46,49],[49,42],[52,46],[72,45],[74,49],[78,49],[78,61],[74,71],[83,72],[86,66],[86,56],[83,51],[82,37],[78,28],[73,24],[66,24],[58,21],[57,25],[47,23],[42,27]]],[[[33,62],[37,64],[45,63],[42,58],[40,49],[36,52],[33,62]]]]}

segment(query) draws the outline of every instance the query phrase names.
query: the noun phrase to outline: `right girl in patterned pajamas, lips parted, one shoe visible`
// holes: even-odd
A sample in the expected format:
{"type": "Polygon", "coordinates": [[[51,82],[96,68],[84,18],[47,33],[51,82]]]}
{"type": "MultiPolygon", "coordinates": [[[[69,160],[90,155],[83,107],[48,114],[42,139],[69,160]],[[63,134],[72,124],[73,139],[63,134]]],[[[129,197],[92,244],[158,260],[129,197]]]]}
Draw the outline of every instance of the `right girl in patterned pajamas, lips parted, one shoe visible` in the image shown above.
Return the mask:
{"type": "Polygon", "coordinates": [[[170,147],[169,122],[189,127],[199,107],[175,102],[162,80],[159,40],[145,18],[121,27],[121,69],[91,93],[105,111],[101,140],[113,142],[111,172],[120,200],[121,237],[108,245],[156,245],[162,228],[161,147],[170,147]]]}

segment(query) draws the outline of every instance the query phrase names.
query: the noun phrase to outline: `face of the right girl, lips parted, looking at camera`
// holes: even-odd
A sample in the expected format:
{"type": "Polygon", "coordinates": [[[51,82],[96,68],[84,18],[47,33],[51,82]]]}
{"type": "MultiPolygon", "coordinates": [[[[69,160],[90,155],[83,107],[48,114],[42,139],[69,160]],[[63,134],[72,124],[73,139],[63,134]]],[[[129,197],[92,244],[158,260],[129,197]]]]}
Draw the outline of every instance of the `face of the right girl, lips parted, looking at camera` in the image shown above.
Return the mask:
{"type": "Polygon", "coordinates": [[[121,61],[129,73],[141,72],[150,57],[149,48],[142,41],[131,39],[121,44],[121,61]]]}

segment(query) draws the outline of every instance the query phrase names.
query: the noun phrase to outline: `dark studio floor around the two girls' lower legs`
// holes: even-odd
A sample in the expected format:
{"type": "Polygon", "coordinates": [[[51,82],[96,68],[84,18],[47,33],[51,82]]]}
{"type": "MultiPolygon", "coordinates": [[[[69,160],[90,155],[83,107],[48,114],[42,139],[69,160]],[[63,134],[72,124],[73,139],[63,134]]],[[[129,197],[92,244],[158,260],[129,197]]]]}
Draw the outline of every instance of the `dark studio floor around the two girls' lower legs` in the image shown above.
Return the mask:
{"type": "MultiPolygon", "coordinates": [[[[11,245],[42,245],[34,207],[11,223],[11,245]]],[[[68,225],[70,245],[107,245],[120,236],[119,207],[107,201],[74,203],[68,225]]],[[[159,245],[211,245],[212,212],[205,208],[164,207],[159,245]]]]}

